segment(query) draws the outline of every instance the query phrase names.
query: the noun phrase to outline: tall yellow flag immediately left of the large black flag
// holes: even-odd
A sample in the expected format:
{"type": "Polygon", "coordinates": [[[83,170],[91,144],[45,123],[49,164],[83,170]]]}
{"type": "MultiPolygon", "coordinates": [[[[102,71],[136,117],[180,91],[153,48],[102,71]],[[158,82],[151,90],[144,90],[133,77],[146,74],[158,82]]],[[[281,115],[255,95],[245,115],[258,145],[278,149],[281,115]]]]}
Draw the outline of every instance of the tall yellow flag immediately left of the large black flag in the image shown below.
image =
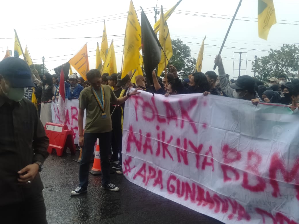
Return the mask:
{"type": "Polygon", "coordinates": [[[121,77],[139,66],[139,47],[141,46],[141,27],[132,0],[126,24],[123,67],[121,77]]]}

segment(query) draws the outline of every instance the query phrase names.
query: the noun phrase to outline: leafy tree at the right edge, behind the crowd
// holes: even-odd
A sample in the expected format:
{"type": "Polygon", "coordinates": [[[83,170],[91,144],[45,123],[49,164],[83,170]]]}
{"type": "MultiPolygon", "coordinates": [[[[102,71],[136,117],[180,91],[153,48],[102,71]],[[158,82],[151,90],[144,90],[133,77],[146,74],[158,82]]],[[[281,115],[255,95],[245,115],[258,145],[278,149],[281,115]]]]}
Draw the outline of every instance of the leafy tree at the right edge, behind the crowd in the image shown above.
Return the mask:
{"type": "Polygon", "coordinates": [[[296,45],[285,45],[280,50],[270,49],[268,56],[258,58],[252,62],[252,72],[256,72],[257,79],[266,82],[271,77],[298,71],[299,48],[296,45]],[[254,68],[255,67],[255,68],[254,68]]]}

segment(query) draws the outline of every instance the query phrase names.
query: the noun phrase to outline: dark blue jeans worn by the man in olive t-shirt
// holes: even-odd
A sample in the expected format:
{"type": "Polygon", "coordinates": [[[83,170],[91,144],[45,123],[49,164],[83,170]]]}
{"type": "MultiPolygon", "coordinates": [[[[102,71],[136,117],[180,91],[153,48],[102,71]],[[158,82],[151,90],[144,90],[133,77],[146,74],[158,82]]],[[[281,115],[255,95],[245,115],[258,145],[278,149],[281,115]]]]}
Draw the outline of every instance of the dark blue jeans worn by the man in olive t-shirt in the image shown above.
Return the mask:
{"type": "Polygon", "coordinates": [[[105,133],[84,133],[84,145],[82,148],[82,157],[79,169],[79,186],[81,188],[87,188],[88,175],[89,175],[89,160],[93,155],[94,144],[100,141],[100,157],[102,167],[102,186],[110,184],[110,163],[109,153],[111,152],[111,132],[105,133]]]}

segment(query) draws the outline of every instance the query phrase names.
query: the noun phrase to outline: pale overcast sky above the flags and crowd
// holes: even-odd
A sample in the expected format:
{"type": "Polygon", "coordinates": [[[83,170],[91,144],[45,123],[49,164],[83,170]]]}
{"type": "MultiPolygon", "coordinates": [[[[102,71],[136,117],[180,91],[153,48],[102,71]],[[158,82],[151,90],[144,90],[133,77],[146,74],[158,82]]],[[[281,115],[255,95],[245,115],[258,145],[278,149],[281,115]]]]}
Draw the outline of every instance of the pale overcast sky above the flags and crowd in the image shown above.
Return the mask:
{"type": "MultiPolygon", "coordinates": [[[[117,68],[121,70],[123,39],[129,0],[111,1],[2,1],[0,58],[5,55],[7,46],[14,48],[16,29],[22,48],[27,44],[33,63],[45,65],[51,70],[67,62],[86,42],[89,66],[95,68],[95,50],[101,42],[103,20],[106,19],[108,44],[114,39],[117,68]],[[16,7],[17,6],[17,7],[16,7]],[[19,11],[18,11],[19,10],[19,11]],[[54,38],[54,39],[51,39],[54,38]],[[65,38],[65,39],[61,39],[65,38]],[[76,38],[76,39],[68,39],[76,38]]],[[[164,13],[177,0],[134,0],[134,6],[140,20],[140,6],[143,7],[149,22],[154,24],[153,7],[163,5],[164,13]]],[[[205,50],[202,72],[213,69],[215,55],[218,54],[231,18],[239,0],[183,0],[176,11],[167,20],[172,39],[181,39],[191,48],[191,55],[197,58],[204,36],[205,50]],[[228,18],[228,19],[223,19],[228,18]]],[[[254,56],[268,55],[270,48],[280,49],[283,44],[299,43],[299,1],[274,0],[277,23],[269,33],[268,41],[260,39],[257,32],[257,0],[243,0],[237,14],[237,20],[229,33],[222,51],[226,73],[238,76],[239,52],[242,53],[241,75],[253,76],[251,61],[254,56]],[[237,53],[235,53],[237,52],[237,53]],[[235,62],[234,65],[234,53],[235,62]],[[247,68],[247,70],[246,70],[247,68]]],[[[158,18],[160,16],[158,15],[158,18]]],[[[51,72],[50,72],[51,73],[51,72]]],[[[54,74],[54,71],[52,71],[54,74]]],[[[216,70],[218,74],[218,71],[216,70]]]]}

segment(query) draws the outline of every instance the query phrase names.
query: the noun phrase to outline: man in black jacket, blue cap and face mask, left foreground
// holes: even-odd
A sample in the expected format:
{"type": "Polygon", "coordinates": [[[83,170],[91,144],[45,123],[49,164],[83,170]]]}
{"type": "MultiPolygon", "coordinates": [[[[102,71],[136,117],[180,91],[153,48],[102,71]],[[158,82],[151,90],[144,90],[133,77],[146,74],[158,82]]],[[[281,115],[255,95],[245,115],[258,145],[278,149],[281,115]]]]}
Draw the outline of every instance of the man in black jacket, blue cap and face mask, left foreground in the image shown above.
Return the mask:
{"type": "Polygon", "coordinates": [[[36,108],[23,98],[35,87],[22,59],[0,62],[0,217],[1,223],[47,223],[39,171],[49,139],[36,108]]]}

